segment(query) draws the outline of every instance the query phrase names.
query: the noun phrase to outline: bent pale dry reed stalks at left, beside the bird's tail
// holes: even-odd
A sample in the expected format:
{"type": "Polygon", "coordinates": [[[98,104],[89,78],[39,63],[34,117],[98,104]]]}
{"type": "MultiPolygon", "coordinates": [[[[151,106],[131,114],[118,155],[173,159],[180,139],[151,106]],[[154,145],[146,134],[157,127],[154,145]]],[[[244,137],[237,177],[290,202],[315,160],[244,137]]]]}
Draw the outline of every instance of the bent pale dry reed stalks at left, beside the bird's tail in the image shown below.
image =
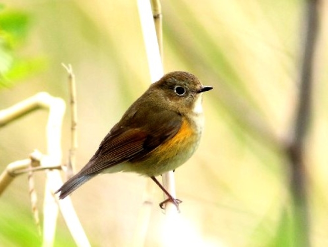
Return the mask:
{"type": "MultiPolygon", "coordinates": [[[[18,175],[26,173],[31,175],[32,172],[45,170],[47,179],[43,209],[42,245],[51,247],[54,244],[59,206],[76,245],[79,247],[89,247],[89,241],[76,216],[70,199],[66,198],[65,201],[58,201],[58,198],[54,195],[54,192],[63,184],[58,170],[61,168],[62,163],[61,136],[65,108],[65,102],[62,99],[52,97],[48,93],[43,92],[0,111],[0,126],[3,126],[34,110],[49,110],[46,134],[48,154],[43,155],[38,151],[34,151],[29,159],[15,161],[9,164],[0,175],[0,195],[18,175]]],[[[30,180],[30,182],[32,181],[30,180]]],[[[34,190],[34,185],[30,189],[34,190]]],[[[31,197],[33,199],[33,212],[37,215],[34,192],[32,192],[31,197]]],[[[36,221],[38,221],[38,216],[36,216],[36,221]]]]}

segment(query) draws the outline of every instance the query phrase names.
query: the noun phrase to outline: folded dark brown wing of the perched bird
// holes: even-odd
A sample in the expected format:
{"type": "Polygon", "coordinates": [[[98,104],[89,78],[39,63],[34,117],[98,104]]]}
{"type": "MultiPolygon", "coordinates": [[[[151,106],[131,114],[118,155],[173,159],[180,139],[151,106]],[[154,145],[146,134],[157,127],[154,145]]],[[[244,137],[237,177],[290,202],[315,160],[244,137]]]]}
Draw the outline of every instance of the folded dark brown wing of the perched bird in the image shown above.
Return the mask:
{"type": "Polygon", "coordinates": [[[171,111],[138,109],[116,124],[79,176],[101,173],[131,159],[139,160],[179,131],[182,117],[171,111]]]}

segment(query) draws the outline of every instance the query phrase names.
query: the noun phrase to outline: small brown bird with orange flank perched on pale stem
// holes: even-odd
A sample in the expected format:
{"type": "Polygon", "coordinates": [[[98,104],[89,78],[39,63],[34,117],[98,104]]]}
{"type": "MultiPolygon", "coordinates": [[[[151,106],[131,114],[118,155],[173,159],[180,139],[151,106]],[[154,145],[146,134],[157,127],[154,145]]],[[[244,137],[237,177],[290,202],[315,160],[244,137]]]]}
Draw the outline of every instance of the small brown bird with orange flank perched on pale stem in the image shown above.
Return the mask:
{"type": "Polygon", "coordinates": [[[103,173],[134,172],[150,177],[179,210],[155,178],[174,171],[195,152],[204,125],[202,93],[211,90],[191,73],[174,71],[150,85],[99,145],[90,161],[56,193],[63,199],[103,173]]]}

